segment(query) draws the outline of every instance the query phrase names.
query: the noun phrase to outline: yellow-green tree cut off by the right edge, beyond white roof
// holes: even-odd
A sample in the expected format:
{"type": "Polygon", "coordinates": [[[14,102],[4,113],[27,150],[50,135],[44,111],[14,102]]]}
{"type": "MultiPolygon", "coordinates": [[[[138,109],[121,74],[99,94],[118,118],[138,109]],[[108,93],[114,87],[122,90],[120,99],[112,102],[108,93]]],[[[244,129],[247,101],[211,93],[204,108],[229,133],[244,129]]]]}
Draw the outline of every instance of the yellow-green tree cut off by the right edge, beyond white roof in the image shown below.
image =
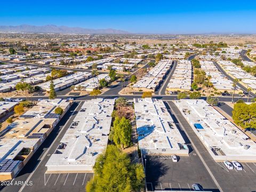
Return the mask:
{"type": "Polygon", "coordinates": [[[234,122],[243,129],[256,129],[256,103],[251,103],[250,105],[246,103],[236,103],[232,114],[234,122]]]}

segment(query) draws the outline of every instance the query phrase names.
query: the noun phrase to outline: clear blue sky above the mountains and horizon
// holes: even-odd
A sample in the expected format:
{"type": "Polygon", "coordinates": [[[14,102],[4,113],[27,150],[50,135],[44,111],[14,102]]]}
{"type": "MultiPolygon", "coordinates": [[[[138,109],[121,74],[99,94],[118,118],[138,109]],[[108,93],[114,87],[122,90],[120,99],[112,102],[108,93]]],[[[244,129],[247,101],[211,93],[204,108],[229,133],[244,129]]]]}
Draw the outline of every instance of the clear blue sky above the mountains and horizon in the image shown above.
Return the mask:
{"type": "Polygon", "coordinates": [[[256,34],[256,1],[2,1],[0,25],[21,24],[131,33],[256,34]]]}

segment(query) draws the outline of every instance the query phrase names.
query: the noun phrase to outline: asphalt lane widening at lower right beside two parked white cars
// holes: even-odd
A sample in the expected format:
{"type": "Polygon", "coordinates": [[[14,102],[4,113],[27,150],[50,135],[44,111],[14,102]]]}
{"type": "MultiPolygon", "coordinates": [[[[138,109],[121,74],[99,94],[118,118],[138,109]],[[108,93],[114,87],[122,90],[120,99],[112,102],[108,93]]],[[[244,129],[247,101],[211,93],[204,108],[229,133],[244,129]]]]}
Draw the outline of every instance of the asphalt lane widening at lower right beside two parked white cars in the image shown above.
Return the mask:
{"type": "Polygon", "coordinates": [[[255,181],[252,178],[256,176],[256,165],[253,163],[243,163],[244,171],[229,171],[225,169],[225,165],[214,161],[175,104],[172,101],[169,101],[168,104],[219,190],[225,192],[255,191],[255,181]]]}

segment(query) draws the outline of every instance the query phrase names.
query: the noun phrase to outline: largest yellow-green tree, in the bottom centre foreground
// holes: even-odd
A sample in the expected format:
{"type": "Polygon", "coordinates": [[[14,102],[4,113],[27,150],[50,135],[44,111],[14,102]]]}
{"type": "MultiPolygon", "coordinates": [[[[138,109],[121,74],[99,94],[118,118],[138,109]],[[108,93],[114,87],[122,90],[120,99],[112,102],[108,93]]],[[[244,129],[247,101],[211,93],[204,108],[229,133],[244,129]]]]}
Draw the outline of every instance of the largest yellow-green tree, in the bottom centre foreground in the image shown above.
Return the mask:
{"type": "Polygon", "coordinates": [[[106,153],[96,159],[94,177],[87,183],[86,191],[141,191],[144,178],[142,164],[132,164],[127,154],[114,145],[108,145],[106,153]]]}

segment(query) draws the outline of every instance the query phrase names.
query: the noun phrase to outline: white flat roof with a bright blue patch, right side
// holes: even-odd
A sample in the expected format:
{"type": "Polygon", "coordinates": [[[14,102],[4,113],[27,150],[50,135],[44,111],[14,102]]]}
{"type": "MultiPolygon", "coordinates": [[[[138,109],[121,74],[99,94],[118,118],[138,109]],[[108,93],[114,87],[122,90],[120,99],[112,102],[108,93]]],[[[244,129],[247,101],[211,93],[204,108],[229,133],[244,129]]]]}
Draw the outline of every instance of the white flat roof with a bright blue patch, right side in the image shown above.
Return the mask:
{"type": "Polygon", "coordinates": [[[174,102],[215,161],[256,162],[256,143],[205,100],[174,102]]]}

